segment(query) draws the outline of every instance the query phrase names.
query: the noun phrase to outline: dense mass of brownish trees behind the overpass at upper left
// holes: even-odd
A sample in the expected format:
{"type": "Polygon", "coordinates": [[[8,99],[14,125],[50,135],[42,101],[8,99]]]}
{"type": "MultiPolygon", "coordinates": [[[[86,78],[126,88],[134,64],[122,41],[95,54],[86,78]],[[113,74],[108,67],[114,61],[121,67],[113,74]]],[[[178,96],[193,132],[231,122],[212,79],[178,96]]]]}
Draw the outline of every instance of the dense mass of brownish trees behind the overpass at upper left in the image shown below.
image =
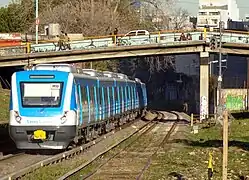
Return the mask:
{"type": "MultiPolygon", "coordinates": [[[[111,3],[94,1],[94,17],[90,2],[39,0],[40,23],[59,23],[67,32],[83,33],[87,36],[103,35],[106,34],[105,29],[113,31],[114,27],[118,27],[120,33],[141,28],[154,30],[152,23],[140,22],[140,14],[133,8],[130,0],[116,0],[111,3]]],[[[14,0],[7,7],[0,8],[0,32],[30,33],[34,32],[34,27],[35,0],[14,0]]],[[[42,30],[42,26],[40,27],[42,30]]]]}

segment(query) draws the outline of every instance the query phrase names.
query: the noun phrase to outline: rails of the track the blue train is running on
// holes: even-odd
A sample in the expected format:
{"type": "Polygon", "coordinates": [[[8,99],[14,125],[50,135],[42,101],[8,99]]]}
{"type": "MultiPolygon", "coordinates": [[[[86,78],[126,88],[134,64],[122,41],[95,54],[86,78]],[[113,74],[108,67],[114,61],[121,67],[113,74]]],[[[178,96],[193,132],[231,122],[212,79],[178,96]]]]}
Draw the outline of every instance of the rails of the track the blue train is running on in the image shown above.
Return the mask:
{"type": "MultiPolygon", "coordinates": [[[[40,168],[40,167],[43,167],[43,166],[48,166],[50,164],[55,164],[55,163],[59,163],[63,160],[66,160],[66,159],[70,159],[70,158],[73,158],[83,152],[85,152],[86,150],[88,150],[90,147],[94,146],[95,144],[103,141],[104,139],[106,139],[107,137],[111,136],[114,134],[114,132],[117,132],[121,129],[124,129],[128,126],[130,126],[131,124],[135,123],[137,120],[135,121],[131,121],[123,126],[121,126],[120,128],[117,128],[115,129],[114,131],[112,132],[109,132],[105,135],[102,135],[100,136],[99,138],[97,138],[95,141],[91,141],[87,144],[84,144],[82,146],[79,146],[79,147],[76,147],[72,150],[69,150],[69,151],[66,151],[66,152],[63,152],[63,153],[59,153],[57,155],[54,155],[54,156],[49,156],[49,157],[45,157],[44,159],[38,161],[38,162],[33,162],[32,164],[29,164],[28,166],[26,166],[25,168],[22,168],[21,170],[19,171],[15,171],[15,172],[11,172],[11,173],[8,173],[6,174],[5,176],[0,176],[0,179],[1,180],[11,180],[11,179],[18,179],[18,178],[21,178],[23,176],[25,176],[26,174],[28,173],[32,173],[33,171],[35,171],[36,169],[40,168]]],[[[20,156],[24,156],[26,154],[20,154],[20,156]]],[[[20,157],[19,156],[19,157],[20,157]]],[[[11,162],[15,161],[17,156],[12,156],[12,157],[9,157],[9,158],[6,158],[5,160],[3,161],[8,161],[10,160],[11,162]]],[[[43,156],[44,157],[44,156],[43,156]]],[[[2,162],[3,162],[2,161],[2,162]]],[[[1,164],[1,160],[0,160],[0,164],[1,164]]],[[[1,167],[1,166],[0,166],[1,167]]],[[[1,170],[1,169],[0,169],[1,170]]]]}

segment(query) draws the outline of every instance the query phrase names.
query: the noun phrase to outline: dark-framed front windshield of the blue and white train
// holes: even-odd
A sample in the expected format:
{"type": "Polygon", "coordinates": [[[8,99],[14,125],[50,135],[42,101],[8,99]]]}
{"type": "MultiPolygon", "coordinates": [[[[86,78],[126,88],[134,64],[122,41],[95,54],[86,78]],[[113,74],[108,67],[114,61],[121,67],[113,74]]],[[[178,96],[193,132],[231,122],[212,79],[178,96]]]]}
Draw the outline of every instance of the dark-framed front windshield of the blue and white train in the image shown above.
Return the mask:
{"type": "Polygon", "coordinates": [[[21,83],[23,107],[59,107],[63,83],[21,83]]]}

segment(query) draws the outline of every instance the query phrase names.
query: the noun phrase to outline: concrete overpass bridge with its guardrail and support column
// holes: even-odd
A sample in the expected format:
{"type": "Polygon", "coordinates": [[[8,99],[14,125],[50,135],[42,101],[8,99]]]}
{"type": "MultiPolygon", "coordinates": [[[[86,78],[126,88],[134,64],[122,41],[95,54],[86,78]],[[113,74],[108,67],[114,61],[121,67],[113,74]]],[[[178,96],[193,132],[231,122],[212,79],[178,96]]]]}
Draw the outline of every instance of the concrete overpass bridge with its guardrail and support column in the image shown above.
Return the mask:
{"type": "MultiPolygon", "coordinates": [[[[151,56],[151,55],[177,55],[200,54],[200,115],[208,115],[209,95],[209,56],[219,52],[219,49],[210,49],[209,43],[217,32],[195,31],[189,32],[192,40],[178,41],[181,33],[171,32],[151,35],[149,37],[124,37],[120,46],[113,45],[112,38],[91,39],[72,42],[72,50],[55,51],[53,43],[32,45],[33,53],[21,52],[23,47],[0,49],[0,67],[24,66],[27,64],[80,62],[94,60],[110,60],[125,57],[151,56]],[[201,39],[201,40],[200,40],[201,39]],[[91,46],[90,46],[90,45],[91,46]],[[19,50],[18,50],[19,48],[19,50]]],[[[222,53],[248,56],[249,34],[244,32],[224,31],[221,42],[222,53]]]]}

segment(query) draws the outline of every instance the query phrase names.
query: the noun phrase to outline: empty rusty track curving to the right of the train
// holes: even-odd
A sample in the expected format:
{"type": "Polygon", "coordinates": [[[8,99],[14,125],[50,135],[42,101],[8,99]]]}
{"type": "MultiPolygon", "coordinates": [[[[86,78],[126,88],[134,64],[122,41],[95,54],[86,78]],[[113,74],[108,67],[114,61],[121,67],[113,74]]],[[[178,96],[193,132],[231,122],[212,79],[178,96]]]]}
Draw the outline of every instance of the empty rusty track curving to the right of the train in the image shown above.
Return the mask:
{"type": "MultiPolygon", "coordinates": [[[[149,168],[149,166],[150,166],[150,164],[152,162],[152,158],[157,154],[157,152],[159,151],[159,149],[168,141],[168,139],[170,138],[171,134],[175,131],[175,128],[177,127],[177,124],[178,124],[178,122],[180,120],[180,117],[179,117],[179,115],[176,112],[171,112],[171,113],[156,112],[156,114],[157,114],[157,119],[158,120],[169,119],[168,115],[170,115],[170,118],[171,118],[170,120],[174,120],[174,122],[171,125],[169,131],[164,136],[163,140],[160,142],[160,144],[156,145],[157,146],[156,150],[154,150],[154,152],[151,153],[151,155],[149,155],[149,157],[146,160],[146,163],[141,168],[141,171],[137,175],[136,179],[141,179],[142,178],[144,172],[149,168]]],[[[91,161],[86,162],[85,164],[82,164],[81,166],[77,167],[76,169],[68,172],[64,176],[60,177],[58,180],[78,179],[78,178],[80,178],[80,179],[92,178],[99,170],[101,170],[110,161],[113,161],[115,158],[117,158],[118,156],[120,156],[120,154],[122,152],[125,152],[128,148],[132,147],[132,145],[135,144],[140,138],[144,137],[147,133],[149,133],[150,131],[152,131],[152,129],[154,129],[156,127],[156,125],[158,124],[158,122],[159,121],[147,123],[146,126],[143,127],[143,129],[141,129],[140,131],[134,132],[129,137],[126,137],[124,140],[120,141],[119,143],[117,143],[117,144],[111,146],[110,148],[106,149],[105,151],[99,153],[97,156],[95,156],[94,158],[92,158],[91,161]],[[102,162],[97,167],[95,167],[94,170],[91,171],[90,173],[87,173],[86,175],[82,175],[83,173],[81,173],[81,171],[84,170],[84,168],[87,168],[87,166],[90,165],[91,163],[93,163],[97,158],[99,158],[100,156],[103,156],[104,154],[107,154],[107,153],[111,152],[112,150],[114,150],[115,148],[117,148],[121,143],[123,143],[125,140],[128,140],[128,139],[130,139],[130,138],[132,138],[134,136],[136,136],[136,138],[134,138],[131,142],[129,142],[128,144],[126,144],[125,147],[121,148],[120,150],[118,150],[118,152],[116,152],[114,154],[111,153],[113,155],[111,155],[104,162],[102,162]]],[[[149,144],[147,144],[147,146],[149,146],[149,144]]],[[[143,148],[146,149],[146,147],[143,147],[143,148]]],[[[109,169],[112,169],[112,168],[109,167],[109,169]]]]}

